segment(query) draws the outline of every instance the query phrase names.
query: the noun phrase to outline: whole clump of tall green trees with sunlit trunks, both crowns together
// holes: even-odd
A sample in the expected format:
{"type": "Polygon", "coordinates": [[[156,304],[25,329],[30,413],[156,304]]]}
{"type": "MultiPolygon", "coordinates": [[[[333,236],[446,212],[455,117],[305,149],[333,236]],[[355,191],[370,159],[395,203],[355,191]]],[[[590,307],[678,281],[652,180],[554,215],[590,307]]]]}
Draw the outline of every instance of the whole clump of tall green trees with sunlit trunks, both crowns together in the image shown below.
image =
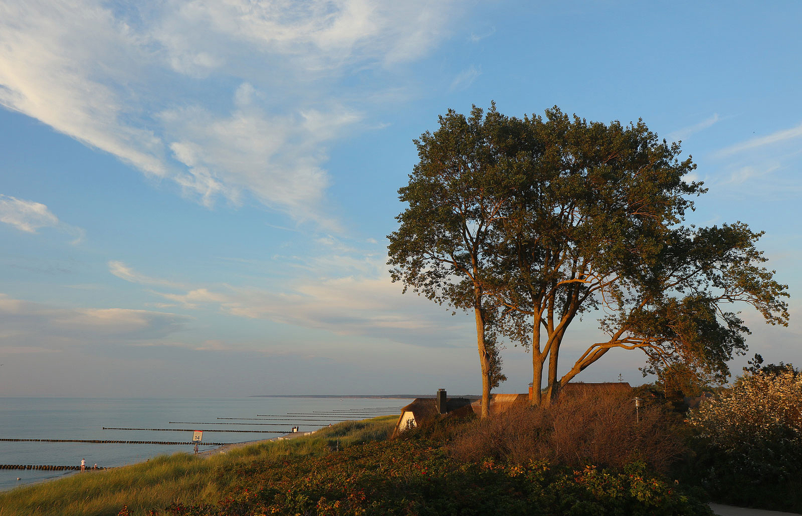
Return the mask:
{"type": "MultiPolygon", "coordinates": [[[[409,203],[390,235],[394,280],[439,303],[472,309],[488,409],[492,332],[529,347],[533,404],[610,349],[640,349],[645,371],[682,367],[723,379],[748,328],[746,303],[787,324],[787,286],[766,270],[761,234],[740,222],[684,225],[695,165],[642,121],[589,123],[558,108],[523,120],[492,107],[486,117],[449,111],[415,143],[420,161],[409,203]],[[591,343],[564,376],[566,331],[598,315],[606,339],[591,343]]],[[[496,350],[497,352],[497,350],[496,350]]]]}

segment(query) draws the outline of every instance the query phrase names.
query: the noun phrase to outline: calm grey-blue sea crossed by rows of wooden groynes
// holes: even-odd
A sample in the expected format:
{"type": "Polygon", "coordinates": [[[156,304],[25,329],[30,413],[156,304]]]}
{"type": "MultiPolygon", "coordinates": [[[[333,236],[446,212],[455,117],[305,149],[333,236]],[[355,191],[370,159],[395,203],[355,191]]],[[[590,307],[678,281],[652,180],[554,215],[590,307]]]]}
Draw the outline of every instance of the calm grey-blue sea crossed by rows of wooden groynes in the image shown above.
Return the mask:
{"type": "MultiPolygon", "coordinates": [[[[95,439],[103,441],[192,441],[192,429],[277,430],[289,432],[293,425],[309,431],[356,416],[361,409],[400,413],[409,400],[350,398],[226,398],[226,399],[136,399],[136,398],[32,398],[0,397],[0,437],[22,439],[95,439]],[[290,412],[344,411],[353,416],[308,416],[290,412]],[[218,420],[218,417],[249,418],[271,414],[284,421],[218,420]],[[319,418],[324,421],[304,421],[319,418]],[[171,425],[171,421],[191,424],[171,425]],[[221,425],[221,423],[277,423],[267,425],[221,425]],[[103,427],[170,429],[103,430],[103,427]],[[186,429],[186,430],[180,430],[186,429]]],[[[205,442],[258,441],[282,433],[204,433],[205,442]]],[[[201,451],[210,449],[201,445],[201,451]]],[[[192,445],[121,445],[95,443],[0,441],[0,464],[31,465],[127,465],[171,453],[192,453],[192,445]]],[[[0,490],[73,474],[64,471],[0,469],[0,490]],[[17,480],[17,477],[20,480],[17,480]]]]}

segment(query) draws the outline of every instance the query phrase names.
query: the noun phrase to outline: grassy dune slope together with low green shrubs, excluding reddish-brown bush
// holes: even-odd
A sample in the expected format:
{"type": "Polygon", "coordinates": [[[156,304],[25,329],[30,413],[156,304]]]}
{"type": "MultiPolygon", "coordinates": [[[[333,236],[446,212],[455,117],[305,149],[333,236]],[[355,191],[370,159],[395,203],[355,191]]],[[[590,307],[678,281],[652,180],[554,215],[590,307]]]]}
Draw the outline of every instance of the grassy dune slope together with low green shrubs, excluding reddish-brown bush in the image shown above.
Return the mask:
{"type": "Polygon", "coordinates": [[[642,463],[612,470],[465,462],[444,447],[448,421],[415,438],[377,441],[395,419],[347,422],[208,459],[176,454],[76,474],[0,495],[0,515],[711,514],[698,494],[642,463]],[[436,435],[444,438],[432,441],[436,435]],[[342,451],[333,453],[337,441],[342,451]]]}

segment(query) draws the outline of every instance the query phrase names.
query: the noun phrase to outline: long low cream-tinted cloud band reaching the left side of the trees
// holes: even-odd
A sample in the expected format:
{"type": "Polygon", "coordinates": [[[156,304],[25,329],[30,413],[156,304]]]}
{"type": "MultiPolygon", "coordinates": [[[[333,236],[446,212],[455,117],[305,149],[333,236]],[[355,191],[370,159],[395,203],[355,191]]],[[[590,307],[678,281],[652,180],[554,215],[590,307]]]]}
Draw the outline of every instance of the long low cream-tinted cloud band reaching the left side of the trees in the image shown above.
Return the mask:
{"type": "MultiPolygon", "coordinates": [[[[342,246],[334,241],[331,246],[342,246]]],[[[344,247],[344,246],[342,246],[344,247]]],[[[354,252],[355,254],[355,252],[354,252]]],[[[297,327],[330,331],[337,335],[367,335],[376,339],[424,346],[470,341],[472,323],[452,318],[444,307],[427,299],[402,295],[383,264],[387,258],[338,254],[309,260],[309,270],[349,270],[354,275],[298,278],[293,286],[192,286],[184,293],[151,291],[187,309],[219,311],[246,319],[262,319],[297,327]]],[[[120,275],[117,267],[112,274],[120,275]]],[[[126,278],[155,283],[130,267],[126,278]]],[[[170,284],[170,282],[164,282],[170,284]]],[[[176,285],[172,283],[172,285],[176,285]]],[[[170,303],[155,303],[169,307],[170,303]]]]}

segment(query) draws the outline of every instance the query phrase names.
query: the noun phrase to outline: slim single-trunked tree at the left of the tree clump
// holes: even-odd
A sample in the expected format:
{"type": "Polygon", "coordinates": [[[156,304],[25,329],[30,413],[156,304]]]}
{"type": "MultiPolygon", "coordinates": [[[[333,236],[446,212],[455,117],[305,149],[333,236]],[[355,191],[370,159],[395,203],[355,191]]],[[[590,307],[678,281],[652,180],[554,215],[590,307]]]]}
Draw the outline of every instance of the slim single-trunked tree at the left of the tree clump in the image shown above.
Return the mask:
{"type": "Polygon", "coordinates": [[[482,417],[489,414],[490,389],[497,384],[500,358],[495,347],[498,303],[484,284],[496,274],[489,250],[491,228],[504,203],[518,189],[508,156],[516,155],[520,120],[491,108],[486,116],[474,108],[469,117],[452,110],[439,117],[439,129],[419,140],[419,163],[409,184],[399,189],[408,208],[398,217],[399,230],[389,235],[388,265],[404,291],[436,303],[473,311],[476,346],[482,371],[482,417]]]}

